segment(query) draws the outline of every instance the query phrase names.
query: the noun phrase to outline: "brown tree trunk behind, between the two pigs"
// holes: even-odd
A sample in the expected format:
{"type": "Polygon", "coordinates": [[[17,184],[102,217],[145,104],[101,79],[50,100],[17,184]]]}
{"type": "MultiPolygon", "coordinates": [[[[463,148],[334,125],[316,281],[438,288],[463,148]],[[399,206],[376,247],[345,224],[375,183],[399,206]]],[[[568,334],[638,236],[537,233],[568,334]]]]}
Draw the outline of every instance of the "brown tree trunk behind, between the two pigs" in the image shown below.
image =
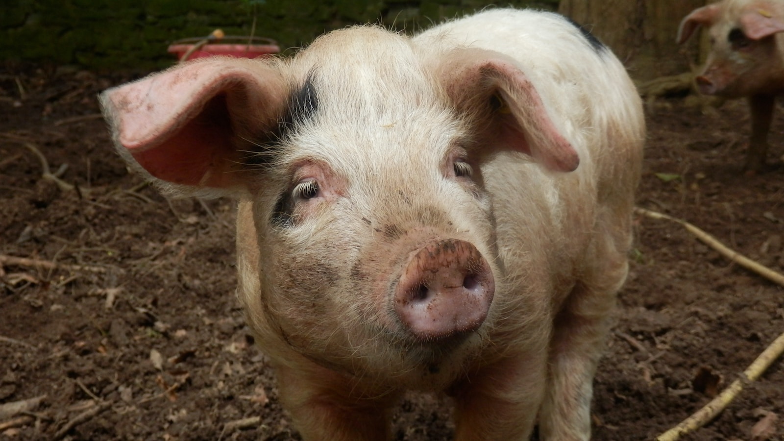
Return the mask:
{"type": "Polygon", "coordinates": [[[691,69],[697,47],[678,46],[678,25],[706,0],[561,0],[558,11],[609,46],[637,80],[691,69]]]}

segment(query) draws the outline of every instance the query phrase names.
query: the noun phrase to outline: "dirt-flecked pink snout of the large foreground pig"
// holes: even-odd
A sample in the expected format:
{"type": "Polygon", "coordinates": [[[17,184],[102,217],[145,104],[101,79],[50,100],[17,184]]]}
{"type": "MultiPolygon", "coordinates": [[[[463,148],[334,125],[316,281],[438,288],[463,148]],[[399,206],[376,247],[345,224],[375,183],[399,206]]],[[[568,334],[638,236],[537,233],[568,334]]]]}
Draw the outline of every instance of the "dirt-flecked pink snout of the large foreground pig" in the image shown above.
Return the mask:
{"type": "Polygon", "coordinates": [[[494,292],[490,265],[475,246],[434,241],[409,258],[394,291],[394,309],[416,338],[437,341],[477,330],[494,292]]]}

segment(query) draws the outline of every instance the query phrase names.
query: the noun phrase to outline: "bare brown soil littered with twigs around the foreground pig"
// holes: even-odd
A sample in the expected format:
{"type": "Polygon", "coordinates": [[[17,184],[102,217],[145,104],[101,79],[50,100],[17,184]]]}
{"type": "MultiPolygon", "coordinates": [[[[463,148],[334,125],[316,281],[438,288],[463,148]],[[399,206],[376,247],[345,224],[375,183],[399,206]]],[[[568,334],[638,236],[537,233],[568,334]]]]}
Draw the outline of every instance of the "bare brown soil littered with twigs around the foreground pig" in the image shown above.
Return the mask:
{"type": "MultiPolygon", "coordinates": [[[[0,264],[0,405],[44,397],[0,415],[0,439],[297,439],[234,298],[230,201],[167,202],[112,151],[96,93],[129,79],[0,72],[0,254],[54,264],[0,264]],[[62,179],[76,188],[43,179],[28,144],[53,173],[67,166],[62,179]],[[232,427],[249,417],[260,420],[232,427]]],[[[742,102],[704,114],[682,99],[647,110],[639,205],[782,271],[784,118],[771,134],[775,166],[746,177],[742,102]]],[[[595,382],[597,440],[654,438],[784,331],[782,287],[677,224],[636,224],[629,281],[595,382]]],[[[449,439],[447,409],[409,396],[395,439],[449,439]]],[[[784,414],[780,362],[687,439],[753,439],[771,414],[784,414]]],[[[780,423],[771,430],[756,439],[781,439],[780,423]]]]}

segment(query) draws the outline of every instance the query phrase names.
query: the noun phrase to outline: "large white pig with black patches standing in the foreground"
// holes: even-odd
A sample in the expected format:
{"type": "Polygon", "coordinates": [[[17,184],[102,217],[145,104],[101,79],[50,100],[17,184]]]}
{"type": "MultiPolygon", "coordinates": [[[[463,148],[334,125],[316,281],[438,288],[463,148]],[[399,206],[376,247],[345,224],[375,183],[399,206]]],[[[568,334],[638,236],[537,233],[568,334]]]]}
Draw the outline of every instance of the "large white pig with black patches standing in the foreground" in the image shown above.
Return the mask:
{"type": "Polygon", "coordinates": [[[453,397],[458,440],[590,438],[644,140],[597,38],[489,9],[100,100],[167,194],[238,201],[238,299],[303,439],[391,439],[408,391],[453,397]]]}

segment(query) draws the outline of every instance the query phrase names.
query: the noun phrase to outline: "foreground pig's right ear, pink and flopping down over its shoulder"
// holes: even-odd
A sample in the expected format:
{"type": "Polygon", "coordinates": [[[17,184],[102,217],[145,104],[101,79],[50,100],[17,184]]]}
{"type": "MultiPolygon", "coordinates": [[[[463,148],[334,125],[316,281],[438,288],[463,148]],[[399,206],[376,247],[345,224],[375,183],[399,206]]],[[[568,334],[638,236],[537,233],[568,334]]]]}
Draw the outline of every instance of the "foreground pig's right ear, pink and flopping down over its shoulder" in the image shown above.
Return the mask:
{"type": "Polygon", "coordinates": [[[551,171],[571,172],[579,166],[575,148],[558,132],[539,92],[512,58],[459,49],[445,56],[439,75],[460,111],[491,111],[487,136],[503,148],[530,155],[551,171]]]}

